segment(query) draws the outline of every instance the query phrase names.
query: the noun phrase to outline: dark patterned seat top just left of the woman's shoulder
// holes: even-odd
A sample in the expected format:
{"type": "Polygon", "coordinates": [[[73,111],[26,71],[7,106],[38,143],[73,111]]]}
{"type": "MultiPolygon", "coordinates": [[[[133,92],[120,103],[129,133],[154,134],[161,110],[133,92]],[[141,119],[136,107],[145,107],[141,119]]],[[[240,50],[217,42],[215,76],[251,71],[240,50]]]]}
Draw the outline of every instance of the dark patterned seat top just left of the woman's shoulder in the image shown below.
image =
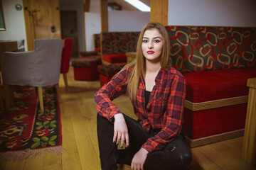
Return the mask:
{"type": "Polygon", "coordinates": [[[115,64],[109,64],[109,65],[98,65],[98,72],[100,74],[103,74],[107,77],[113,77],[114,74],[117,74],[122,67],[124,67],[124,63],[115,63],[115,64]]]}

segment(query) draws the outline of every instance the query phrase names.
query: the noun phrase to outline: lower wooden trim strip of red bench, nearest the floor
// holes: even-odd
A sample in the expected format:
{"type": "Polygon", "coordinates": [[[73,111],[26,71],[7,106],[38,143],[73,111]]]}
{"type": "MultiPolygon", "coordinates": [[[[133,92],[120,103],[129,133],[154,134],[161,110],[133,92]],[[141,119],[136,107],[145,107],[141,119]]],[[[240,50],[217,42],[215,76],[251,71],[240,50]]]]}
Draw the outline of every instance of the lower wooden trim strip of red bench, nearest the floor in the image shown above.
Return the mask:
{"type": "Polygon", "coordinates": [[[208,145],[214,142],[220,142],[223,140],[230,140],[235,137],[242,137],[244,135],[245,129],[234,130],[231,132],[225,132],[218,135],[212,135],[208,137],[201,137],[196,140],[191,140],[188,136],[186,136],[186,141],[189,147],[199,147],[202,145],[208,145]]]}

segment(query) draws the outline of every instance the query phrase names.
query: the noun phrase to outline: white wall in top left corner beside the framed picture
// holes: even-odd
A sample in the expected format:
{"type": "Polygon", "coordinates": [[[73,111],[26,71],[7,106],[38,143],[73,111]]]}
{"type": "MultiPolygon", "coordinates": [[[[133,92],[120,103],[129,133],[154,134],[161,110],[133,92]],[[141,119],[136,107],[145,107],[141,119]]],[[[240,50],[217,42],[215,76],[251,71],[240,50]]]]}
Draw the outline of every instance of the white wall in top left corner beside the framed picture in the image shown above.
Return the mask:
{"type": "Polygon", "coordinates": [[[22,0],[2,0],[4,11],[4,22],[6,30],[0,31],[0,40],[25,40],[26,46],[26,30],[23,16],[23,9],[17,11],[16,4],[22,5],[22,0]]]}

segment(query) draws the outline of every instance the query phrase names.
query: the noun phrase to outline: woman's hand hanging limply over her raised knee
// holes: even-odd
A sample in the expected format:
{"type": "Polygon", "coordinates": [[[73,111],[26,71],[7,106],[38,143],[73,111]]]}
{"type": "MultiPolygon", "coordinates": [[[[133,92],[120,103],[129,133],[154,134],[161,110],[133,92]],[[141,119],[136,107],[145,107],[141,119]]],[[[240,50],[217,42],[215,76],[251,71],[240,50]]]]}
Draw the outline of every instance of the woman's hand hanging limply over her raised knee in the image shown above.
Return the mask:
{"type": "Polygon", "coordinates": [[[126,142],[127,147],[129,147],[129,135],[127,124],[124,120],[124,115],[122,113],[117,113],[114,115],[114,137],[113,142],[118,145],[121,141],[121,147],[123,147],[124,142],[126,142]]]}

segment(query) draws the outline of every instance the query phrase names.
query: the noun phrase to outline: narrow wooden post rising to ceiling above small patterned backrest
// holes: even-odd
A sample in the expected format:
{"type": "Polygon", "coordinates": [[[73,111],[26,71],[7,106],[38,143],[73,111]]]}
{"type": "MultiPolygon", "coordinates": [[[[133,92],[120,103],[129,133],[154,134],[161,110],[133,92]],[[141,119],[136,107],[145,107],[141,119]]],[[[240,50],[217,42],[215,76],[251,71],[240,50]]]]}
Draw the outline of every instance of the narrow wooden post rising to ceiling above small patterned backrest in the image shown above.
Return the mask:
{"type": "Polygon", "coordinates": [[[107,0],[100,0],[100,21],[102,33],[108,32],[107,0]]]}

